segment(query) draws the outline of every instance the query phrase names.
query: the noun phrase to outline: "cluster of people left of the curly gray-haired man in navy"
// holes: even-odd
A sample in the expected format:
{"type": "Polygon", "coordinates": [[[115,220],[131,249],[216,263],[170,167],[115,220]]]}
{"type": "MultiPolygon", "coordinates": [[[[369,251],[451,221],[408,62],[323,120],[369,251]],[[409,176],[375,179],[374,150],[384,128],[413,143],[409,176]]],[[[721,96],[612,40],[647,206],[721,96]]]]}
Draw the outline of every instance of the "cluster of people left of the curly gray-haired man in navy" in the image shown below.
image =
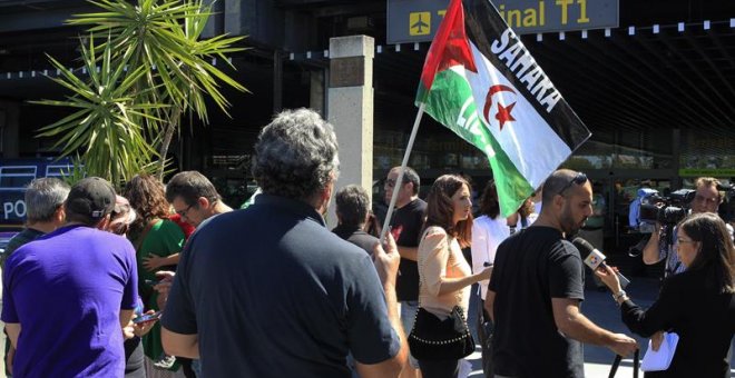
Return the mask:
{"type": "Polygon", "coordinates": [[[232,209],[196,171],[177,173],[168,189],[138,175],[121,193],[100,178],[27,188],[26,228],[1,261],[7,376],[196,377],[198,361],[164,352],[157,317],[135,319],[164,309],[195,227],[232,209]],[[176,211],[183,200],[190,205],[176,211]]]}

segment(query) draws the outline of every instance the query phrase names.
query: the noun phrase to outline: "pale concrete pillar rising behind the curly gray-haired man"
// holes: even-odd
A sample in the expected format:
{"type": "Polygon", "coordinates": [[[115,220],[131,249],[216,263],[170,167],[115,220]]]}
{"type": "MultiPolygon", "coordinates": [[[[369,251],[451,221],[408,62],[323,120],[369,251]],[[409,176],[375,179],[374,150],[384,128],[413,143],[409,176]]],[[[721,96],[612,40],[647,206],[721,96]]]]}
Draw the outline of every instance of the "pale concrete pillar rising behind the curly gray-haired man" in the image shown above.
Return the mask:
{"type": "MultiPolygon", "coordinates": [[[[330,39],[327,120],[340,143],[340,188],[355,183],[372,193],[373,181],[373,57],[375,40],[367,36],[330,39]]],[[[334,202],[327,223],[336,226],[334,202]]]]}

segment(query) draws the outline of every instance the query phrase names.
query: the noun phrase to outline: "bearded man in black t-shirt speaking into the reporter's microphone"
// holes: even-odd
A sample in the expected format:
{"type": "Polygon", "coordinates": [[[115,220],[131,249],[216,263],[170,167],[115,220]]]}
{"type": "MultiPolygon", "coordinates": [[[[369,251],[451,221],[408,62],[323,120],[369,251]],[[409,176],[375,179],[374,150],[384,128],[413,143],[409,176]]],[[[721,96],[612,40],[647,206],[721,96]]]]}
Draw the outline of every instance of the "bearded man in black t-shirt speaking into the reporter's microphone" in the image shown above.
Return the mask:
{"type": "Polygon", "coordinates": [[[486,298],[496,325],[496,377],[584,377],[581,342],[621,356],[637,348],[634,339],[599,328],[579,309],[582,260],[565,237],[585,223],[591,203],[587,177],[558,170],[543,185],[536,222],[498,247],[486,298]]]}

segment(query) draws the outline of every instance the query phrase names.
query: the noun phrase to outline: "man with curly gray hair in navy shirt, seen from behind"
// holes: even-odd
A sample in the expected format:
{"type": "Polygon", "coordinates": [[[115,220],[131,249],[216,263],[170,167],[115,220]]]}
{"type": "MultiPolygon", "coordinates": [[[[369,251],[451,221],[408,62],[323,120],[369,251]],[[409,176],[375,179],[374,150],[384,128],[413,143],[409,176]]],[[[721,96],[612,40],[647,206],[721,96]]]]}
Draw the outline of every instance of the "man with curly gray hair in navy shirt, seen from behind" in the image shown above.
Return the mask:
{"type": "Polygon", "coordinates": [[[163,325],[168,354],[205,377],[398,377],[406,346],[395,302],[399,256],[375,263],[326,229],[339,173],[332,126],[286,110],[258,136],[245,210],[219,215],[182,252],[163,325]]]}

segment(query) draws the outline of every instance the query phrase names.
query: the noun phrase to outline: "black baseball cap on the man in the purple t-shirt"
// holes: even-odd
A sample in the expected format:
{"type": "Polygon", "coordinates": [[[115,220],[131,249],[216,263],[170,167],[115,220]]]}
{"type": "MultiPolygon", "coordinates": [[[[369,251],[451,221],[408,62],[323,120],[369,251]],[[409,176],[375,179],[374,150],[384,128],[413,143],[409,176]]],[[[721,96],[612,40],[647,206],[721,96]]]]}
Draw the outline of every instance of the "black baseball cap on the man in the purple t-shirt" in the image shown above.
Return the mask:
{"type": "Polygon", "coordinates": [[[99,177],[88,177],[75,183],[65,202],[68,211],[94,220],[102,219],[115,209],[115,188],[99,177]]]}

